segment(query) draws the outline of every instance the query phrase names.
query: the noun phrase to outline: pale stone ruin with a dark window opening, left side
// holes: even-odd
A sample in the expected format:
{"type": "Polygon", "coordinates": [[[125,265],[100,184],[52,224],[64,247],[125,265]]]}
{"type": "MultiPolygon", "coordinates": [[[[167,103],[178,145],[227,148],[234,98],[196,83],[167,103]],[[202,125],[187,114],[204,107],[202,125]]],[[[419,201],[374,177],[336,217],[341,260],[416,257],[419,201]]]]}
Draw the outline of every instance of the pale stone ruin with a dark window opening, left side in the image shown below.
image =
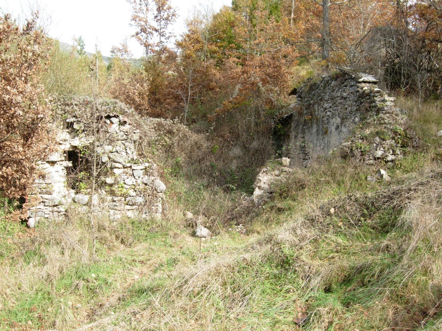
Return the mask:
{"type": "Polygon", "coordinates": [[[88,97],[51,102],[55,151],[36,162],[40,176],[27,198],[29,227],[63,217],[72,205],[84,211],[93,206],[112,221],[161,215],[166,186],[156,165],[137,155],[137,117],[121,102],[105,99],[97,101],[94,117],[93,103],[88,97]]]}

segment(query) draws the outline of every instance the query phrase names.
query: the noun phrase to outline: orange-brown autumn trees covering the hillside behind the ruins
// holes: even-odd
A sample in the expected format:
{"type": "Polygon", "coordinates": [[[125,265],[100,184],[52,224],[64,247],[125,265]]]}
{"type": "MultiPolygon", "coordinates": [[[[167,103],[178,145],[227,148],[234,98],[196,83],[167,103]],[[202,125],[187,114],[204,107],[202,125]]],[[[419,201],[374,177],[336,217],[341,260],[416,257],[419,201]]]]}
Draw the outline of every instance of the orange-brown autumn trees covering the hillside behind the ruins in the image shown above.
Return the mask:
{"type": "Polygon", "coordinates": [[[442,95],[438,0],[234,0],[194,15],[176,52],[164,44],[175,18],[164,1],[130,1],[135,37],[146,53],[162,49],[144,64],[145,114],[212,122],[253,103],[253,118],[268,119],[284,104],[301,58],[368,71],[421,98],[442,95]]]}

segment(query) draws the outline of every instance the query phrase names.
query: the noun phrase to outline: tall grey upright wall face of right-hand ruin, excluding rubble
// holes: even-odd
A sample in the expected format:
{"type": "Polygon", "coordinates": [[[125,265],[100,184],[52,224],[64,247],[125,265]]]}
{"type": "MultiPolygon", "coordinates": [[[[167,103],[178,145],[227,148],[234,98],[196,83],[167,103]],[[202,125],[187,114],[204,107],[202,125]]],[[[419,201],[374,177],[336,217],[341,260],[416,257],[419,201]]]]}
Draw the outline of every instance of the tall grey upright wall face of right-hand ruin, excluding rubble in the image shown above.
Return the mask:
{"type": "Polygon", "coordinates": [[[306,165],[317,155],[338,148],[362,121],[391,109],[394,98],[379,89],[378,82],[371,75],[346,68],[307,81],[297,89],[296,103],[283,117],[282,156],[288,156],[294,165],[306,165]]]}

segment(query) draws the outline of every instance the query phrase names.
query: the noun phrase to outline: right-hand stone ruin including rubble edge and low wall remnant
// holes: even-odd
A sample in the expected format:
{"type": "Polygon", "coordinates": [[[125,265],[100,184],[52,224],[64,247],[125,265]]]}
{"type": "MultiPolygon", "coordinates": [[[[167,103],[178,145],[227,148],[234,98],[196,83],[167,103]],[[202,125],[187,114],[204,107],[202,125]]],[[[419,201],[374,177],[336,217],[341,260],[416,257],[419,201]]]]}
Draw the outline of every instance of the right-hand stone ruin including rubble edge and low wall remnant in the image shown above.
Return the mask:
{"type": "Polygon", "coordinates": [[[275,184],[283,181],[290,172],[286,158],[293,166],[307,166],[336,151],[342,158],[388,167],[407,150],[419,147],[406,111],[396,108],[395,98],[377,83],[371,75],[341,68],[302,84],[296,90],[296,103],[274,121],[274,145],[282,166],[261,169],[252,201],[263,203],[275,184]]]}

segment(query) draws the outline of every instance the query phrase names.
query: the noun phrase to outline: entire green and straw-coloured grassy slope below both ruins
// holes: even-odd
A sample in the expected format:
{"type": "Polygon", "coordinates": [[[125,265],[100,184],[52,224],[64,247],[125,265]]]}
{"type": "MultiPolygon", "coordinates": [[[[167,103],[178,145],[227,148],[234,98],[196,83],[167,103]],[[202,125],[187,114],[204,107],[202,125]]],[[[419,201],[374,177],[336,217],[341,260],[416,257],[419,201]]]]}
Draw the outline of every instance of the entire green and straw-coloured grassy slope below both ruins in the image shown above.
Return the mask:
{"type": "Polygon", "coordinates": [[[100,220],[94,261],[86,217],[13,224],[0,244],[0,328],[293,330],[305,314],[312,331],[440,330],[440,110],[410,112],[431,147],[389,169],[389,188],[367,184],[376,166],[332,158],[232,217],[238,196],[171,176],[168,217],[100,220]],[[217,236],[192,238],[184,209],[212,215],[217,236]],[[225,224],[235,219],[246,235],[225,224]]]}

